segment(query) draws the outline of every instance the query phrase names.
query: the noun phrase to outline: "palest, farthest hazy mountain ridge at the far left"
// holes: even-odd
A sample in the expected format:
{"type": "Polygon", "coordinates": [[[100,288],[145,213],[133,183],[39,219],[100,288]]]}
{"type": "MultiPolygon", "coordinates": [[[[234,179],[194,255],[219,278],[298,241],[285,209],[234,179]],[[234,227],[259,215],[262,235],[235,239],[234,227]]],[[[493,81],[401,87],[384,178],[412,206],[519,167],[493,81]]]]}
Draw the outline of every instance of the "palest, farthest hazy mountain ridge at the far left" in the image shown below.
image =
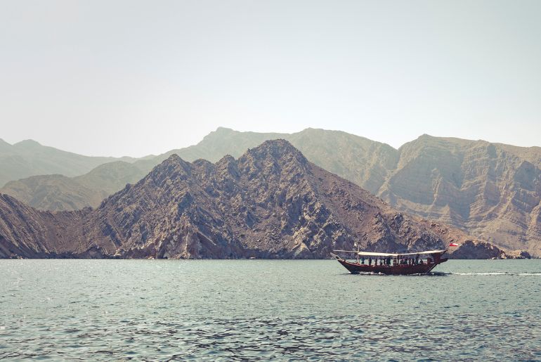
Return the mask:
{"type": "Polygon", "coordinates": [[[89,172],[100,164],[117,160],[133,162],[136,159],[131,157],[89,157],[41,146],[32,140],[11,145],[0,139],[0,186],[8,181],[36,175],[78,176],[89,172]]]}

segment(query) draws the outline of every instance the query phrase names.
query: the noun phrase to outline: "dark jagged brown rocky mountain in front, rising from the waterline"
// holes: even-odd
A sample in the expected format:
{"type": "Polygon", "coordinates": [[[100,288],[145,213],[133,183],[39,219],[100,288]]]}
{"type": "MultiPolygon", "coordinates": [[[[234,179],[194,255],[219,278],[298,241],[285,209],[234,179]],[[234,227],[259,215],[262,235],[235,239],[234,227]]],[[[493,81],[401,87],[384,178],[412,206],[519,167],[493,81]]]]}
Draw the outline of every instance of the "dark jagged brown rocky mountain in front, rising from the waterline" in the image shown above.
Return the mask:
{"type": "Polygon", "coordinates": [[[356,240],[382,251],[453,240],[474,250],[468,257],[500,254],[461,231],[396,212],[280,140],[216,164],[171,155],[93,210],[39,212],[0,198],[1,257],[315,258],[356,240]]]}

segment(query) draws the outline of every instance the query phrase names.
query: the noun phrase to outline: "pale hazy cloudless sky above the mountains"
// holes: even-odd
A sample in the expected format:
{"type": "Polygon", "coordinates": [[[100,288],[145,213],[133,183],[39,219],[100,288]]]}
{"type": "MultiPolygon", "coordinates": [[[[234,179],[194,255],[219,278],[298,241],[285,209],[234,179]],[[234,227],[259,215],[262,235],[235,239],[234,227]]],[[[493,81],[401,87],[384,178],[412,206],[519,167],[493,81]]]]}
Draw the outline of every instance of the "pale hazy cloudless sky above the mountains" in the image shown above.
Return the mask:
{"type": "Polygon", "coordinates": [[[541,146],[541,1],[0,0],[0,138],[142,156],[216,127],[541,146]]]}

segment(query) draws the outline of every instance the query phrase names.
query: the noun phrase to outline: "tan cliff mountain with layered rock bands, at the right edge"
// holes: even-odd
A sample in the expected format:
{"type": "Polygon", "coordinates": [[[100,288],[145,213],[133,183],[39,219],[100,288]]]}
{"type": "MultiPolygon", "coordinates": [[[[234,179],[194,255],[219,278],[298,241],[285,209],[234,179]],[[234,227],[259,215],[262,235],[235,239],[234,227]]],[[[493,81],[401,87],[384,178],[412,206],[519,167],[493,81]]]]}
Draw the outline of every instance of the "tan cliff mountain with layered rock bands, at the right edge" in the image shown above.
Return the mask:
{"type": "Polygon", "coordinates": [[[378,194],[508,250],[541,255],[541,148],[422,136],[378,194]]]}

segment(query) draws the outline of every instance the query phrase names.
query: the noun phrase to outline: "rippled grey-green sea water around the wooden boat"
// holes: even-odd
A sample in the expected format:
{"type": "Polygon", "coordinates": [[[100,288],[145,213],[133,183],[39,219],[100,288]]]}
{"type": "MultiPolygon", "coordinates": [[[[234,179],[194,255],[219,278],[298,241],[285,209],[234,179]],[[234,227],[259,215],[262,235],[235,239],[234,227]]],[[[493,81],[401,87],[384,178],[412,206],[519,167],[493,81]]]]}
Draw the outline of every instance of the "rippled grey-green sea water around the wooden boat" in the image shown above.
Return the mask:
{"type": "Polygon", "coordinates": [[[0,260],[0,358],[541,361],[541,260],[0,260]]]}

